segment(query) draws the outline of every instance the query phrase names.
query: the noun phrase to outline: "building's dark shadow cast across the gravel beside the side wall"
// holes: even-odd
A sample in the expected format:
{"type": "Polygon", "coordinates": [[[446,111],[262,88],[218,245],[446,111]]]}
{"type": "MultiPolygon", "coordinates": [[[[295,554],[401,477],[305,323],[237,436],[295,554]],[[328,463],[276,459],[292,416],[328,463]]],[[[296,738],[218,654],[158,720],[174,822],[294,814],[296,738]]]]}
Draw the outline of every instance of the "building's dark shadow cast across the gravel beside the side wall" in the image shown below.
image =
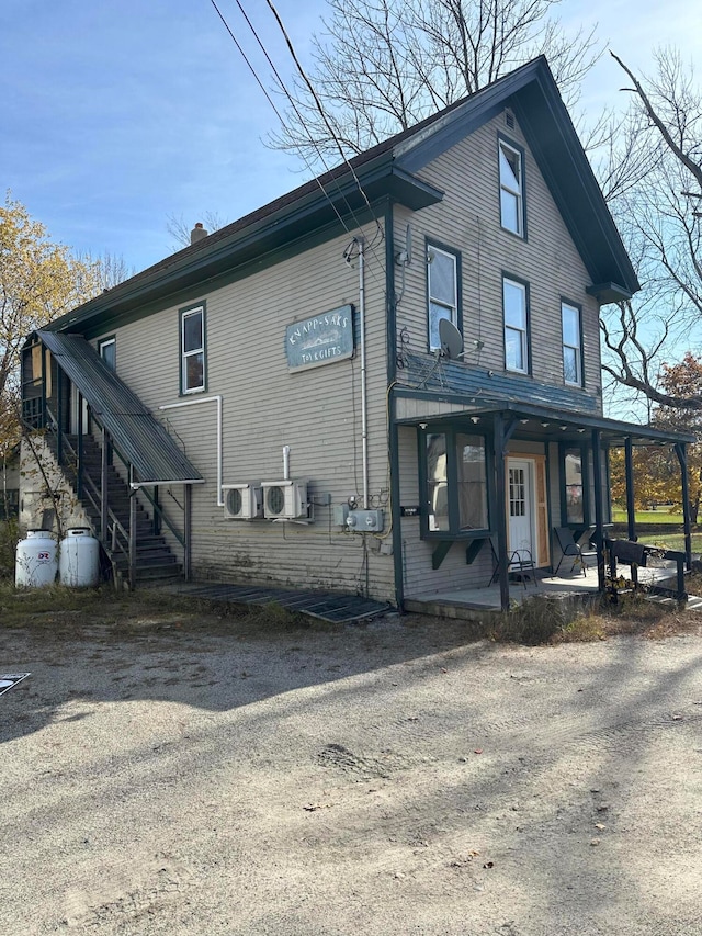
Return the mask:
{"type": "Polygon", "coordinates": [[[31,611],[0,619],[0,675],[31,673],[0,696],[0,743],[65,719],[61,708],[81,699],[225,711],[410,661],[435,670],[433,655],[465,645],[476,656],[491,651],[468,622],[390,613],[330,624],[158,593],[84,599],[82,609],[80,595],[70,601],[78,607],[52,608],[46,596],[49,607],[37,610],[33,597],[31,611]]]}

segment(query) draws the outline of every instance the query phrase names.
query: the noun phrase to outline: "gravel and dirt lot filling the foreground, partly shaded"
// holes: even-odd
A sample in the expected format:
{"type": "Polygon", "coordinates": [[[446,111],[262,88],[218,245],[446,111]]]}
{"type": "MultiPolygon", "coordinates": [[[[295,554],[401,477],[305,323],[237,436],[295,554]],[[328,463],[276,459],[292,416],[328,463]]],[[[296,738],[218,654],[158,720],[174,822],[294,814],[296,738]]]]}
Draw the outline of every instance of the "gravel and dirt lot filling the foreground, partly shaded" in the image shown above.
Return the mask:
{"type": "Polygon", "coordinates": [[[0,620],[23,672],[7,932],[702,934],[700,631],[524,647],[117,606],[0,620]]]}

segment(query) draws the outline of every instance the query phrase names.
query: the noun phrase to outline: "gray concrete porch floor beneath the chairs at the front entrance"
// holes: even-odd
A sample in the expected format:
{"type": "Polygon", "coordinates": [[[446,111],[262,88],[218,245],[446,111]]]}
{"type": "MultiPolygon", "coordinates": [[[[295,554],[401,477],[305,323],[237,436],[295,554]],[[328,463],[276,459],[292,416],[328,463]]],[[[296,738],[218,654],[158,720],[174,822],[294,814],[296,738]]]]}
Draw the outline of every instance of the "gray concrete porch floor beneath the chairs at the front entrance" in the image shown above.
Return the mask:
{"type": "MultiPolygon", "coordinates": [[[[565,563],[564,566],[567,571],[568,566],[565,563]]],[[[630,574],[629,566],[621,565],[620,572],[627,577],[630,574]]],[[[670,578],[675,582],[675,577],[676,564],[673,562],[661,562],[658,567],[638,570],[638,582],[642,585],[652,585],[670,578]]],[[[597,566],[592,565],[587,567],[586,575],[582,575],[579,570],[571,574],[563,574],[562,570],[558,576],[540,577],[537,585],[532,579],[528,579],[524,584],[511,582],[509,588],[512,606],[521,605],[522,601],[534,596],[573,598],[587,604],[588,598],[595,599],[597,594],[597,566]]],[[[702,604],[698,598],[690,598],[689,604],[691,602],[702,604]]],[[[406,598],[405,610],[445,618],[485,620],[501,611],[500,589],[499,585],[490,585],[484,588],[456,588],[433,594],[424,593],[406,598]]]]}

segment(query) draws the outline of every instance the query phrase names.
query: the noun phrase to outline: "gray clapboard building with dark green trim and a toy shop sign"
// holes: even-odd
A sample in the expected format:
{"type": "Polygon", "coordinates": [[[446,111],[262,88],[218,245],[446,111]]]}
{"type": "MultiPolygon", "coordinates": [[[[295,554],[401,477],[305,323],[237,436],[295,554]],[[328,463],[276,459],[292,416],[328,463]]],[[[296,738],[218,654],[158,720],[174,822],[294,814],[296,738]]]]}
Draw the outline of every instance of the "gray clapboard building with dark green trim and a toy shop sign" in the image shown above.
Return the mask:
{"type": "Polygon", "coordinates": [[[609,447],[684,467],[602,416],[600,305],[637,289],[539,58],[35,332],[25,419],[133,572],[138,503],[195,578],[506,607],[514,550],[601,539],[609,447]]]}

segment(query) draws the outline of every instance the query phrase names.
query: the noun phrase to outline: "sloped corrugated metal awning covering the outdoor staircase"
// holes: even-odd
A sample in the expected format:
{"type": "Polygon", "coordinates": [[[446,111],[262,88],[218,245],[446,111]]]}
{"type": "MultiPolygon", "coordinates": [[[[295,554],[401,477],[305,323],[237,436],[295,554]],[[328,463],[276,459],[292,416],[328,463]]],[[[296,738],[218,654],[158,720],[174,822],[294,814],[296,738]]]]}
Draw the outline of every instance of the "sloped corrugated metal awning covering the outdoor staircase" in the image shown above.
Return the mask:
{"type": "Polygon", "coordinates": [[[82,336],[44,330],[34,334],[82,394],[121,458],[134,466],[136,482],[204,481],[166,428],[82,336]]]}

